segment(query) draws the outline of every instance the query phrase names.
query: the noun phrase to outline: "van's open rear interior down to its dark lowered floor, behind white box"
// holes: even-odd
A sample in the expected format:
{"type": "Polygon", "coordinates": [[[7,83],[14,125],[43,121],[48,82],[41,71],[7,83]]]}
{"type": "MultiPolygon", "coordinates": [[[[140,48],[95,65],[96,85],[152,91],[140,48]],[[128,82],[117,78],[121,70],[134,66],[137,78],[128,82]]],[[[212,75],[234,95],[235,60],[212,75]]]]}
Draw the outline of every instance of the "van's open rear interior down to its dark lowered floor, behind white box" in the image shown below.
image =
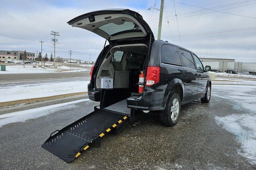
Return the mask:
{"type": "Polygon", "coordinates": [[[97,89],[101,87],[101,78],[113,78],[113,89],[104,90],[103,108],[120,101],[119,106],[127,108],[126,99],[139,95],[139,75],[146,69],[147,54],[148,46],[145,44],[117,45],[110,49],[95,76],[97,89]]]}

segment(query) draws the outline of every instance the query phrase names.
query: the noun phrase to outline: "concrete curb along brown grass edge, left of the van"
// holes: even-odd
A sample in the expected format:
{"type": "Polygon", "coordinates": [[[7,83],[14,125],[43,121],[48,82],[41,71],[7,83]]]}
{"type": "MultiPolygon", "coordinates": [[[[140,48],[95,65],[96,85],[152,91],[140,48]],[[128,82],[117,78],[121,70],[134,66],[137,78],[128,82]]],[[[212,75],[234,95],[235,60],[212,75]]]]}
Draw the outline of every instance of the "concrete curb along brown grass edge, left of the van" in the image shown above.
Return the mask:
{"type": "Polygon", "coordinates": [[[32,104],[25,104],[23,106],[14,106],[14,107],[8,107],[0,110],[0,115],[6,114],[6,113],[11,113],[11,112],[16,112],[16,111],[22,111],[22,110],[27,110],[27,109],[34,109],[38,107],[44,107],[44,106],[50,106],[54,104],[61,104],[61,103],[66,103],[66,102],[72,102],[75,100],[81,100],[81,99],[86,99],[88,98],[88,95],[78,95],[78,96],[70,96],[70,97],[65,97],[65,98],[58,98],[54,100],[46,100],[43,102],[36,102],[32,104]]]}

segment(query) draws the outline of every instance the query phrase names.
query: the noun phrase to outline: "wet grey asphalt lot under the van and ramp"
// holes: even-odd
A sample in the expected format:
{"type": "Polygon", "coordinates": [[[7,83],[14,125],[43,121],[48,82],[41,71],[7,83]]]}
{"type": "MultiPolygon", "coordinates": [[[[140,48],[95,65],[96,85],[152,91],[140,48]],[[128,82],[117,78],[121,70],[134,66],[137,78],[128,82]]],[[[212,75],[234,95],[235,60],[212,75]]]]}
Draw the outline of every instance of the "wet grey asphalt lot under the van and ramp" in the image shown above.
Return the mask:
{"type": "Polygon", "coordinates": [[[226,92],[220,86],[213,87],[212,91],[209,104],[195,101],[182,106],[174,127],[161,125],[157,113],[141,113],[120,134],[104,136],[100,148],[88,149],[71,163],[40,146],[51,132],[90,113],[96,102],[80,102],[25,122],[3,125],[0,127],[0,169],[255,169],[256,164],[238,152],[242,146],[237,136],[216,123],[216,117],[252,111],[234,107],[234,101],[219,97],[233,92],[226,92]]]}

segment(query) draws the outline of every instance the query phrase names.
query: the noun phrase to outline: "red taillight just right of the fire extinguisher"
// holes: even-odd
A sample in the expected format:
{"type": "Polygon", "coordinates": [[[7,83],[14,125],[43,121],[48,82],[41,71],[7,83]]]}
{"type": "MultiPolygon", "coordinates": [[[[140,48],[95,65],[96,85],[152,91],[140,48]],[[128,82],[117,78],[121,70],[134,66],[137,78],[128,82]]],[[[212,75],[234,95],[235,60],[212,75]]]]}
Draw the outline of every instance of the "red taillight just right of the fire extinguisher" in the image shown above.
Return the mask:
{"type": "Polygon", "coordinates": [[[148,66],[146,76],[146,86],[152,86],[153,84],[159,83],[160,78],[160,67],[148,66]]]}

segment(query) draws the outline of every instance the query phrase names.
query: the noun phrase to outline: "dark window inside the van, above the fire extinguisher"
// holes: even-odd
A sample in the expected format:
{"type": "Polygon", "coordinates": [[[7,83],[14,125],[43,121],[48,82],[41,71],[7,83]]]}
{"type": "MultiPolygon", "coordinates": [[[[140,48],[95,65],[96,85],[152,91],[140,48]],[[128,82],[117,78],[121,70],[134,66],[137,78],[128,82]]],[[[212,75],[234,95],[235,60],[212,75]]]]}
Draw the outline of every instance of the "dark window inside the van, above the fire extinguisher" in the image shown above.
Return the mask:
{"type": "Polygon", "coordinates": [[[130,53],[127,56],[127,61],[131,68],[141,68],[144,58],[145,58],[145,55],[138,54],[138,53],[130,53]]]}

